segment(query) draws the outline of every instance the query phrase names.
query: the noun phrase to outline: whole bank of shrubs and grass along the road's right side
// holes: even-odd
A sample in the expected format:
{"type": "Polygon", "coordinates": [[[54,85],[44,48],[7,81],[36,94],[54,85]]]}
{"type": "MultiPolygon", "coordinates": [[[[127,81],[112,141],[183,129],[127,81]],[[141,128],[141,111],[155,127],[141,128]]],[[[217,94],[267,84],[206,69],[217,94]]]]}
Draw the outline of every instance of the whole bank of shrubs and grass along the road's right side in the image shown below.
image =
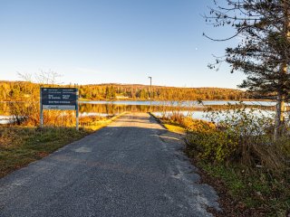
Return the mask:
{"type": "MultiPolygon", "coordinates": [[[[274,142],[270,134],[247,133],[245,129],[253,126],[251,117],[245,117],[241,127],[216,127],[186,117],[161,121],[172,128],[187,129],[186,153],[208,176],[223,183],[226,192],[243,207],[240,210],[261,211],[262,214],[256,216],[284,217],[290,212],[288,135],[274,142]]],[[[254,126],[255,132],[263,132],[264,126],[263,121],[254,126]]],[[[241,212],[237,216],[244,215],[241,212]]]]}

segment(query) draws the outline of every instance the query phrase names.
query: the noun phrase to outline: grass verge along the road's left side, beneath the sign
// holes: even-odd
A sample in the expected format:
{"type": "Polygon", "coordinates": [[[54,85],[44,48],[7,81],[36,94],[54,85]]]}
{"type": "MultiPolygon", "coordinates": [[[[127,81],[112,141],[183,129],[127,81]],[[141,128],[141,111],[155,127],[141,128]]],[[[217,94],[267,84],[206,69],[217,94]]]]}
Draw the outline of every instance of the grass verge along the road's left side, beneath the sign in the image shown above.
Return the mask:
{"type": "Polygon", "coordinates": [[[83,121],[79,131],[75,127],[0,127],[0,178],[107,126],[120,116],[83,121]]]}

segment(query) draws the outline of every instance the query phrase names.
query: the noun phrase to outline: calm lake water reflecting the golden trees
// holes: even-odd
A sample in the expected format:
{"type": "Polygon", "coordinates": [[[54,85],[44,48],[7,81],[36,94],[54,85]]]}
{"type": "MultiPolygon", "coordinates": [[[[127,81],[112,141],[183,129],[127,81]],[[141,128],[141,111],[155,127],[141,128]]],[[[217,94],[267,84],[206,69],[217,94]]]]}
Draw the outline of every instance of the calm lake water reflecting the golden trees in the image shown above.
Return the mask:
{"type": "MultiPolygon", "coordinates": [[[[9,102],[13,103],[13,102],[9,102]]],[[[9,113],[9,103],[0,102],[0,124],[9,123],[12,119],[9,113]]],[[[19,102],[17,102],[19,103],[19,102]]],[[[179,109],[180,113],[187,116],[190,113],[192,118],[205,119],[204,109],[210,107],[213,109],[227,109],[228,105],[235,105],[239,103],[238,101],[203,101],[202,104],[198,101],[184,101],[179,109]]],[[[270,101],[245,101],[243,102],[247,106],[264,109],[269,109],[273,113],[273,108],[275,102],[270,101]]],[[[151,111],[160,116],[161,114],[169,115],[170,112],[176,109],[178,102],[174,101],[152,101],[151,111]]],[[[150,111],[150,101],[131,101],[131,100],[121,100],[121,101],[80,101],[80,116],[111,116],[117,115],[124,111],[131,112],[149,112],[150,111]]]]}

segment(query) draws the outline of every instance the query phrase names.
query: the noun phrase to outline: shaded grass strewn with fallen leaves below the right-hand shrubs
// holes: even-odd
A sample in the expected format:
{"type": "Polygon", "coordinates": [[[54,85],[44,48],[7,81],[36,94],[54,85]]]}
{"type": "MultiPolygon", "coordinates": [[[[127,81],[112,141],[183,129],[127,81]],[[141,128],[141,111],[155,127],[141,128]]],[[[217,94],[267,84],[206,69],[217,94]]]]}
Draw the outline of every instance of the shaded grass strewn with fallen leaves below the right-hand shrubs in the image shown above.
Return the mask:
{"type": "Polygon", "coordinates": [[[203,183],[212,185],[223,212],[215,216],[288,216],[289,180],[240,165],[212,164],[192,157],[203,183]]]}

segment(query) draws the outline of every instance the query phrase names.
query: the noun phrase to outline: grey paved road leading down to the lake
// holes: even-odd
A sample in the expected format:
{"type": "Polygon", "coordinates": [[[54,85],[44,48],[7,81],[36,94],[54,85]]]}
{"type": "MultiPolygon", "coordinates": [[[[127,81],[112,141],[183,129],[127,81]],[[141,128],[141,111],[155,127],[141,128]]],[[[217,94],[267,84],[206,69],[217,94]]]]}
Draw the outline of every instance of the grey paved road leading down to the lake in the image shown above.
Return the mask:
{"type": "Polygon", "coordinates": [[[124,115],[0,179],[0,216],[212,216],[218,196],[181,147],[148,114],[124,115]]]}

